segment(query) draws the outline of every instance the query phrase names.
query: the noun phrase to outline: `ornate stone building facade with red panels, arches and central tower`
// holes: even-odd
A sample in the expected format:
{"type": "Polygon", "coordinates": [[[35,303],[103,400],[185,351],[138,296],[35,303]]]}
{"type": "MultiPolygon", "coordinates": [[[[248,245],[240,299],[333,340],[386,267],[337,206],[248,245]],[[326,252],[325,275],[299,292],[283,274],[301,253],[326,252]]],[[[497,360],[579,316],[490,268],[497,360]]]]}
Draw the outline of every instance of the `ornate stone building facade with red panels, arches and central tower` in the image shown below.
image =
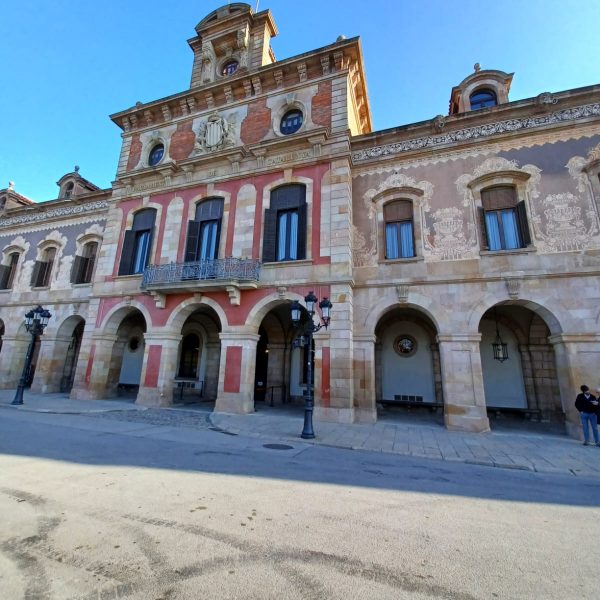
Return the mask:
{"type": "Polygon", "coordinates": [[[117,175],[75,205],[95,206],[89,221],[5,209],[3,265],[17,246],[24,261],[0,292],[6,385],[16,315],[43,302],[43,391],[77,314],[74,398],[196,394],[248,413],[301,401],[314,355],[318,419],[396,403],[439,407],[454,429],[486,431],[493,410],[576,432],[574,392],[600,384],[600,86],[509,101],[512,75],[476,65],[448,116],[374,132],[358,38],[276,60],[276,33],[243,3],[198,24],[190,88],[112,115],[117,175]],[[84,292],[66,257],[92,229],[84,292]],[[25,265],[57,233],[62,271],[31,289],[25,265]],[[333,302],[312,352],[290,317],[310,291],[333,302]]]}

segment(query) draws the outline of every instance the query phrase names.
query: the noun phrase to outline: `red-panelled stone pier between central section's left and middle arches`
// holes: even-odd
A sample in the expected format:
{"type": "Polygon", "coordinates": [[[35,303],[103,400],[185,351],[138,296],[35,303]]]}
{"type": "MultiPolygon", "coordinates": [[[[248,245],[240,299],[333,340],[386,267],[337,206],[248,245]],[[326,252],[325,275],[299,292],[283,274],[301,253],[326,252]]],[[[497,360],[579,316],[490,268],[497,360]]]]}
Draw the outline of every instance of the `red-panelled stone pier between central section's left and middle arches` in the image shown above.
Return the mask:
{"type": "Polygon", "coordinates": [[[136,404],[171,406],[181,334],[144,334],[144,365],[136,404]]]}

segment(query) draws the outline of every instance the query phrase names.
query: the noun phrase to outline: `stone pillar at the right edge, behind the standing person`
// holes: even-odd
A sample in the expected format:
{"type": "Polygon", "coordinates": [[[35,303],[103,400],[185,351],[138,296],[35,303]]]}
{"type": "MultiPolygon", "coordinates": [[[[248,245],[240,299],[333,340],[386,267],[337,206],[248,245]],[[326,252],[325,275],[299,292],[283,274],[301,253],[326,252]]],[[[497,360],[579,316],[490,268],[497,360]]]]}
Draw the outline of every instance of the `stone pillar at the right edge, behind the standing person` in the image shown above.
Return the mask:
{"type": "Polygon", "coordinates": [[[588,385],[594,394],[595,388],[600,386],[600,335],[562,333],[550,336],[548,341],[554,346],[556,375],[567,433],[571,437],[583,439],[575,397],[582,384],[588,385]]]}

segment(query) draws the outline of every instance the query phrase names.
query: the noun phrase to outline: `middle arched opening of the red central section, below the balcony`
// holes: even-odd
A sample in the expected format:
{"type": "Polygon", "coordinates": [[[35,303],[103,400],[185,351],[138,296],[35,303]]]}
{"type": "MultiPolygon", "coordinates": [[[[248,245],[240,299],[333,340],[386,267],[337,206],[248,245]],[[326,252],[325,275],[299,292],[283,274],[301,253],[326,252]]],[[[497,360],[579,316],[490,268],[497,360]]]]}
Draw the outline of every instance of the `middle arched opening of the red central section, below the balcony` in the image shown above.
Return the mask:
{"type": "Polygon", "coordinates": [[[185,320],[175,373],[173,401],[210,401],[217,398],[221,362],[221,321],[209,306],[200,305],[185,320]]]}

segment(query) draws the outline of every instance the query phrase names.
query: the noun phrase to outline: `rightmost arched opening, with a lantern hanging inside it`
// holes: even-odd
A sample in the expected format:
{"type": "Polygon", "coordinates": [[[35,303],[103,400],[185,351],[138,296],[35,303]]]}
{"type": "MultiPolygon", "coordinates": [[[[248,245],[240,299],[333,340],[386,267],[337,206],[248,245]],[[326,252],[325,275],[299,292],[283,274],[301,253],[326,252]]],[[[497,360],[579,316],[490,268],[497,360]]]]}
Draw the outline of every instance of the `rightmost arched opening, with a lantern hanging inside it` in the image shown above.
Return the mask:
{"type": "Polygon", "coordinates": [[[479,332],[490,427],[533,427],[543,422],[562,431],[565,415],[544,319],[524,306],[496,305],[484,313],[479,332]],[[494,358],[494,343],[506,345],[506,359],[494,358]]]}

